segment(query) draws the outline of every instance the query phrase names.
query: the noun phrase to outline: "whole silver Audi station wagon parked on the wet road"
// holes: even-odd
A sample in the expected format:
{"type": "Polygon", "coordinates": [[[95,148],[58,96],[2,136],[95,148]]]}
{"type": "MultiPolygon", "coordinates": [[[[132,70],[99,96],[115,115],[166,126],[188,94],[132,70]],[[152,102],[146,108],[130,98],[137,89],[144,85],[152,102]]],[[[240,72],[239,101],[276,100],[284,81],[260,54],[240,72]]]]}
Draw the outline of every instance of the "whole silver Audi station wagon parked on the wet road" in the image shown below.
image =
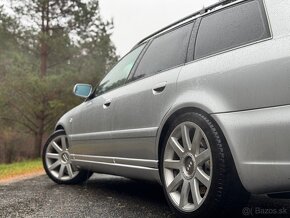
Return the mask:
{"type": "Polygon", "coordinates": [[[290,1],[222,1],[139,42],[43,150],[47,175],[162,184],[182,217],[290,191],[290,1]]]}

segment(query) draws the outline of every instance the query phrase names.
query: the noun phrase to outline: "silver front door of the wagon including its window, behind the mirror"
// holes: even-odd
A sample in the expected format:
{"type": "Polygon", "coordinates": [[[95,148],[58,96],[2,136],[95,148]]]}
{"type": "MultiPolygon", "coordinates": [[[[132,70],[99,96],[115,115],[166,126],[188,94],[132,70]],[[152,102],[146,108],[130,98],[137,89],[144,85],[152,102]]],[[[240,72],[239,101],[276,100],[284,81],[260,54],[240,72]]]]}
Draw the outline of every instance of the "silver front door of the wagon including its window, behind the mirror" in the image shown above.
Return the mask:
{"type": "Polygon", "coordinates": [[[127,81],[144,47],[145,44],[126,55],[100,82],[91,100],[80,105],[81,113],[73,118],[73,134],[70,135],[70,152],[78,155],[75,156],[77,159],[83,159],[84,156],[112,156],[112,100],[115,99],[115,92],[127,81]]]}

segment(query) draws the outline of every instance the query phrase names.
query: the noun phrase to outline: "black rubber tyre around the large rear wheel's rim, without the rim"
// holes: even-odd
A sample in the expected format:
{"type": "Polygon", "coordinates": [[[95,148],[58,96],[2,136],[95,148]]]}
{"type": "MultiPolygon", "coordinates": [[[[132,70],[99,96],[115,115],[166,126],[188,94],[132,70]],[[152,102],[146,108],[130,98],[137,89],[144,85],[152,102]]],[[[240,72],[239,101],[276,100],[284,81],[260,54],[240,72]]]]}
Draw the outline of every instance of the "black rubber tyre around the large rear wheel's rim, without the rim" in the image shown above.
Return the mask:
{"type": "Polygon", "coordinates": [[[242,207],[248,202],[250,194],[244,189],[236,172],[235,164],[222,131],[210,116],[187,112],[176,117],[170,124],[161,144],[159,171],[166,200],[178,217],[219,217],[240,215],[242,207]],[[170,200],[164,178],[164,152],[172,131],[181,123],[193,122],[205,133],[212,153],[211,185],[202,205],[192,212],[181,211],[170,200]]]}

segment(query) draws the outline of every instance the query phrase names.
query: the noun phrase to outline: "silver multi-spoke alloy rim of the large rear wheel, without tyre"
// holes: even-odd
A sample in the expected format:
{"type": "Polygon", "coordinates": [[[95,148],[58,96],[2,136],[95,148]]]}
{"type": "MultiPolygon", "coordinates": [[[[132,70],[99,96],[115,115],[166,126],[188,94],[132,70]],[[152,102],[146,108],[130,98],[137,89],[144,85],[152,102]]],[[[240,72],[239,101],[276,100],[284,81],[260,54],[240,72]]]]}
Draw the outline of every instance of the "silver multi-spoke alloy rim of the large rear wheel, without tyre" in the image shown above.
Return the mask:
{"type": "Polygon", "coordinates": [[[207,197],[212,179],[212,153],[204,131],[183,122],[170,134],[163,157],[166,192],[182,212],[197,210],[207,197]]]}

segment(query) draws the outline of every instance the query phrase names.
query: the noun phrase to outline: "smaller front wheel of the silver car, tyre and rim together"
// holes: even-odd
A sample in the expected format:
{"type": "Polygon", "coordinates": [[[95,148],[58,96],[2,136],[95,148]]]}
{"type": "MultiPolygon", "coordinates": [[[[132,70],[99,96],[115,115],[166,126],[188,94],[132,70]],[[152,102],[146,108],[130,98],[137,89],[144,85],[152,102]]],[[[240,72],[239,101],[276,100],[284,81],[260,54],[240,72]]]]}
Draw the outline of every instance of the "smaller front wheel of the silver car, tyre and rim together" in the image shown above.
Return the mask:
{"type": "Polygon", "coordinates": [[[76,169],[71,162],[65,131],[52,134],[44,145],[42,162],[46,174],[58,184],[78,184],[92,175],[86,170],[76,169]]]}

